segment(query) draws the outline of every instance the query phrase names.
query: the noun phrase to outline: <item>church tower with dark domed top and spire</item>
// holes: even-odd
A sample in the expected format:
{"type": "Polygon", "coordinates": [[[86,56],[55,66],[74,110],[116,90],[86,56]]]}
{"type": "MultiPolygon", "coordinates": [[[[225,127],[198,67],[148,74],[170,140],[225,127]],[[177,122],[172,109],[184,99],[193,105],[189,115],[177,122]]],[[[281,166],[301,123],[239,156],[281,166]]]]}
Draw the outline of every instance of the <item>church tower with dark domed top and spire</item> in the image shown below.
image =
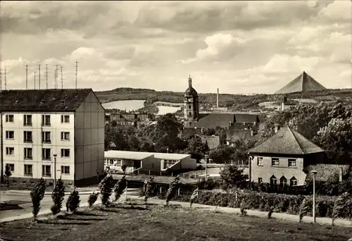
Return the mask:
{"type": "Polygon", "coordinates": [[[199,121],[199,99],[196,89],[192,87],[191,75],[188,78],[188,89],[184,92],[184,127],[192,128],[199,121]]]}

